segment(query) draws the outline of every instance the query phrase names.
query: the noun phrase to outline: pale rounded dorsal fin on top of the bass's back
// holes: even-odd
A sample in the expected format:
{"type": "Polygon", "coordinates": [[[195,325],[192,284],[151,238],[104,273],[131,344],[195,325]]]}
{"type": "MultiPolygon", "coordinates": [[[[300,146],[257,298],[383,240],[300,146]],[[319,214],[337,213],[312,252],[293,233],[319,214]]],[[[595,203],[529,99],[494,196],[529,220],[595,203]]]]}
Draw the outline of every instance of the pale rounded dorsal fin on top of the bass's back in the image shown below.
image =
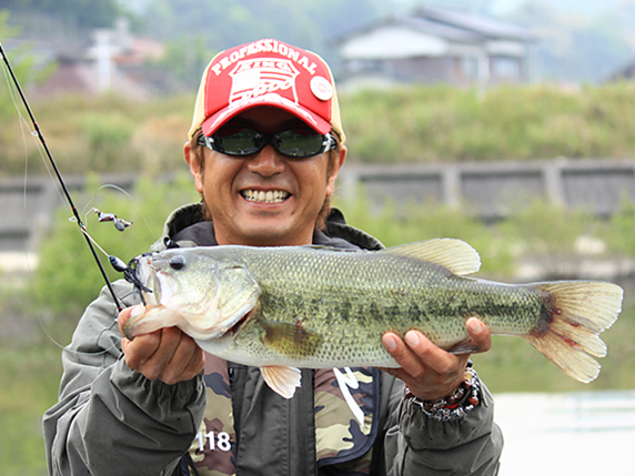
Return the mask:
{"type": "Polygon", "coordinates": [[[456,275],[471,274],[481,267],[481,256],[470,244],[456,239],[434,239],[382,250],[415,260],[439,264],[456,275]]]}

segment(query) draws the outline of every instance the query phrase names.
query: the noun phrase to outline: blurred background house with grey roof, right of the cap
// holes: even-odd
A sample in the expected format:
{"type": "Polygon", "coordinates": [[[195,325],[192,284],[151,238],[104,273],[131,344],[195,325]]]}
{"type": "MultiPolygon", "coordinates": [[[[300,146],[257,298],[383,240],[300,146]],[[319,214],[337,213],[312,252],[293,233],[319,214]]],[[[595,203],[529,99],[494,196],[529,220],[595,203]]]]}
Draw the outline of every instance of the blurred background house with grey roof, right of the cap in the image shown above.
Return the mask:
{"type": "Polygon", "coordinates": [[[345,80],[450,84],[523,82],[528,30],[440,9],[395,14],[337,41],[345,80]]]}

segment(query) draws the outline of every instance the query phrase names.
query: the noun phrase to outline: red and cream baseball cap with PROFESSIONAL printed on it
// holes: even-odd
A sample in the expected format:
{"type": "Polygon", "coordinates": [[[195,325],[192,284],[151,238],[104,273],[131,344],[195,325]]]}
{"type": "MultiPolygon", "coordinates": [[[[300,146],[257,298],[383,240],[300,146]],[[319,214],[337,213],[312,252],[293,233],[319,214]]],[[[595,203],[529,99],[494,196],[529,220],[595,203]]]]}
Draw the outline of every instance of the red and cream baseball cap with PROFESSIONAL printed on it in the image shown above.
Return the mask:
{"type": "Polygon", "coordinates": [[[259,40],[216,54],[203,72],[190,138],[212,135],[234,115],[258,107],[283,109],[344,143],[333,74],[318,54],[278,40],[259,40]]]}

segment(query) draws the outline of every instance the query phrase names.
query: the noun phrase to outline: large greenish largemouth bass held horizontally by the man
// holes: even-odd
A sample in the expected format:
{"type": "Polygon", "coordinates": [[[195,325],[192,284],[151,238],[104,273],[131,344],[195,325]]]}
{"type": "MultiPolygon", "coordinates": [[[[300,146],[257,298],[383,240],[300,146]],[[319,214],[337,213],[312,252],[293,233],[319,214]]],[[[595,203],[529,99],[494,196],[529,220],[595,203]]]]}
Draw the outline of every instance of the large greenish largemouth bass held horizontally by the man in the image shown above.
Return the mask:
{"type": "Polygon", "coordinates": [[[173,249],[137,259],[145,310],[125,335],[178,326],[219,357],[258,366],[290,398],[298,367],[396,367],[381,342],[419,330],[470,352],[465,321],[516,335],[579,382],[599,373],[599,333],[621,312],[619,286],[594,281],[510,285],[465,277],[481,265],[460,240],[382,251],[322,246],[173,249]]]}

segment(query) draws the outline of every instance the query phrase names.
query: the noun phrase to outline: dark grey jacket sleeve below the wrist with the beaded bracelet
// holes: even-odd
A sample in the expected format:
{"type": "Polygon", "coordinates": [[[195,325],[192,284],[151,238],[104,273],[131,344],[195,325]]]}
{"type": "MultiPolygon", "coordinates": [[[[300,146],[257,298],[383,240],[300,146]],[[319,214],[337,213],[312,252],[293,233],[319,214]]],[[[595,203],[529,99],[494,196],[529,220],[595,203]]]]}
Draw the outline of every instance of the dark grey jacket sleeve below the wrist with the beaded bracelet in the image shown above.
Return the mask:
{"type": "Polygon", "coordinates": [[[478,406],[463,419],[437,422],[393,392],[384,440],[385,472],[390,476],[490,476],[498,473],[503,435],[493,421],[494,402],[481,384],[478,406]]]}

